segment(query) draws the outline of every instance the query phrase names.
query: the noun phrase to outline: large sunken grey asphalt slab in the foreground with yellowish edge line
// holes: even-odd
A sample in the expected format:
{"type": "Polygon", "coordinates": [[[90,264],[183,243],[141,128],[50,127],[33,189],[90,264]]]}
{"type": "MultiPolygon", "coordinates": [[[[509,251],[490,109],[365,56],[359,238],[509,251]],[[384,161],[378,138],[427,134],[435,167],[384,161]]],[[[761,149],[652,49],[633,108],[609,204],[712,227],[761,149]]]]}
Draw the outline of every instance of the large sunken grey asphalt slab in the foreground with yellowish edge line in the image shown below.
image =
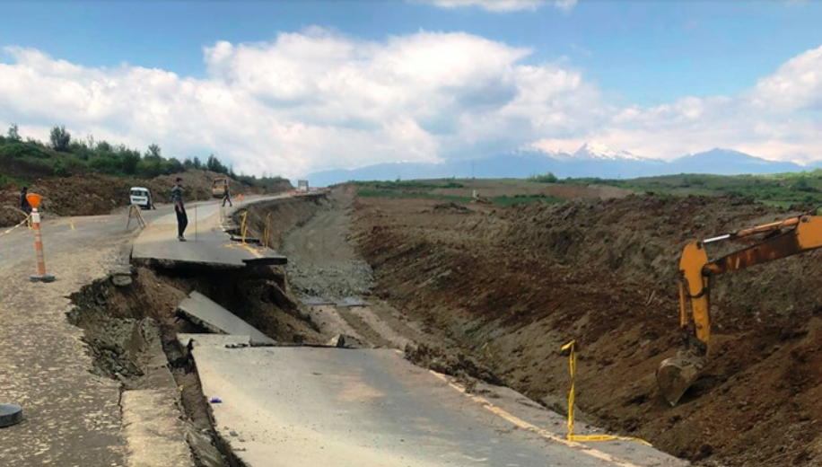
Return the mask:
{"type": "Polygon", "coordinates": [[[565,441],[554,412],[478,403],[394,350],[232,348],[203,335],[191,353],[215,429],[249,467],[685,464],[630,442],[565,441]]]}

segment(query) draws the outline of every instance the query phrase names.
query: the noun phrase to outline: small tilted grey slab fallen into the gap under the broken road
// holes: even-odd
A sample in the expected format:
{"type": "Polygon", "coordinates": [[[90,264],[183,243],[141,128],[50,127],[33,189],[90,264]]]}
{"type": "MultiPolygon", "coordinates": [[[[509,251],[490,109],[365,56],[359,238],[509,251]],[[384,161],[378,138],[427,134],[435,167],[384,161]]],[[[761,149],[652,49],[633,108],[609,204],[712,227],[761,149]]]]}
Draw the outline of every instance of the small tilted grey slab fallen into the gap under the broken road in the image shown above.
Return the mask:
{"type": "Polygon", "coordinates": [[[240,320],[236,315],[197,291],[188,295],[188,298],[183,300],[178,308],[189,320],[214,333],[249,336],[251,342],[256,344],[276,343],[274,339],[269,338],[248,322],[240,320]]]}

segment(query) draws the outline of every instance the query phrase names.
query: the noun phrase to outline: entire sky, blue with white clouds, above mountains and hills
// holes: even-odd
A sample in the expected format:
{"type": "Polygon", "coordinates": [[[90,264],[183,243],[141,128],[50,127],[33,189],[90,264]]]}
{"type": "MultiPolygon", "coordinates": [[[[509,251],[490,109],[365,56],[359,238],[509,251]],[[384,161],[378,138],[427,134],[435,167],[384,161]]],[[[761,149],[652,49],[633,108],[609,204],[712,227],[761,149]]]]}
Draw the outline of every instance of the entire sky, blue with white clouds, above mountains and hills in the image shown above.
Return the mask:
{"type": "Polygon", "coordinates": [[[0,131],[289,178],[586,142],[822,160],[822,2],[4,0],[0,131]]]}

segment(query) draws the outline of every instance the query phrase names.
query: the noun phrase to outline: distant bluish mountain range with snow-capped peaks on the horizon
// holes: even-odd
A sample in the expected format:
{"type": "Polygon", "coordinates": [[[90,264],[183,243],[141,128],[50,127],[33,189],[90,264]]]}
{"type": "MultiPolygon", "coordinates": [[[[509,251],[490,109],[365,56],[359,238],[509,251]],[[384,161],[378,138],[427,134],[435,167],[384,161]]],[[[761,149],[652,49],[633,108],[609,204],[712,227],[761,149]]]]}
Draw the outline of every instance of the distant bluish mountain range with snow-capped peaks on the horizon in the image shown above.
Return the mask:
{"type": "Polygon", "coordinates": [[[587,143],[573,154],[519,151],[485,159],[446,163],[380,163],[353,170],[311,173],[313,186],[328,186],[342,181],[413,180],[439,178],[526,178],[547,172],[559,178],[599,177],[631,179],[676,173],[713,173],[739,175],[799,172],[812,169],[797,163],[768,161],[730,149],[714,148],[688,154],[672,161],[640,157],[606,145],[587,143]]]}

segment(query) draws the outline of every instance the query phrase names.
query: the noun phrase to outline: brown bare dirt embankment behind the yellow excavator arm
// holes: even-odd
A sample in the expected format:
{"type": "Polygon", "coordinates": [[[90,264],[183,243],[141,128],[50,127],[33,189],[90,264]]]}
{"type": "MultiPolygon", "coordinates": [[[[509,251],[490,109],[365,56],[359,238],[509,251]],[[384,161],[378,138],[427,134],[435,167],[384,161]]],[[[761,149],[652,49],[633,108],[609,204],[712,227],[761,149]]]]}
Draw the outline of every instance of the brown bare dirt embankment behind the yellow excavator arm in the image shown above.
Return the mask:
{"type": "Polygon", "coordinates": [[[599,424],[702,465],[822,463],[819,253],[718,278],[703,377],[674,408],[653,379],[679,343],[684,242],[795,213],[745,198],[631,196],[469,215],[435,204],[358,198],[353,240],[377,296],[459,341],[502,381],[535,400],[562,397],[569,378],[557,350],[577,339],[577,403],[599,424]]]}

